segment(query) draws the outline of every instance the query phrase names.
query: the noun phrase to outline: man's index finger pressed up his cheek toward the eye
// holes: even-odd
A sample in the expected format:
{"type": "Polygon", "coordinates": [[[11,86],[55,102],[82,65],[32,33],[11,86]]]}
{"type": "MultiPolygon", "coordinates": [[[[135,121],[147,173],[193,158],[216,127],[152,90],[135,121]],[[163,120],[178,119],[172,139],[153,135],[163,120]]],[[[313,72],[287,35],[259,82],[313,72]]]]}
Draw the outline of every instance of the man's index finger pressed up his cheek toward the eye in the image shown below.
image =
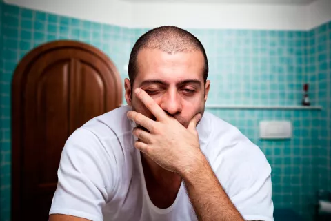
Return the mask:
{"type": "Polygon", "coordinates": [[[136,93],[137,97],[143,102],[143,104],[150,110],[150,112],[157,117],[159,121],[163,121],[168,117],[168,115],[162,110],[162,108],[157,104],[157,102],[154,102],[154,99],[146,93],[145,90],[142,90],[141,88],[137,88],[134,90],[134,93],[136,93]]]}

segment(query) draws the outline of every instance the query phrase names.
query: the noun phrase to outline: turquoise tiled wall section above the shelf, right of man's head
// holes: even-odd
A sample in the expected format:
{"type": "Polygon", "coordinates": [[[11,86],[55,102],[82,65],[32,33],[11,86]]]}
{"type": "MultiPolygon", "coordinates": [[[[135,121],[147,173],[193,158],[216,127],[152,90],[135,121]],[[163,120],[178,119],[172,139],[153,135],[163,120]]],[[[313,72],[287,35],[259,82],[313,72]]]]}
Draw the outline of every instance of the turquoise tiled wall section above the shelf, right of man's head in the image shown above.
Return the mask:
{"type": "Polygon", "coordinates": [[[300,103],[305,81],[302,69],[305,32],[191,31],[201,39],[210,59],[214,87],[209,104],[300,103]]]}

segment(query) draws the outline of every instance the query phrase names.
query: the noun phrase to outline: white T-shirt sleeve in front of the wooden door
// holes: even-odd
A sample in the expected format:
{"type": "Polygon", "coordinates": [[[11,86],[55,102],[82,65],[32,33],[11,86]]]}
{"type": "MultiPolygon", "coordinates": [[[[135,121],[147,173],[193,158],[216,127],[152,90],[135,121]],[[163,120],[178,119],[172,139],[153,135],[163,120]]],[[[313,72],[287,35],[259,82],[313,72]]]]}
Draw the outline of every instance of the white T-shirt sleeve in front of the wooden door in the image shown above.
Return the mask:
{"type": "Polygon", "coordinates": [[[116,180],[111,157],[94,133],[84,128],[74,131],[61,154],[50,214],[103,220],[102,208],[116,180]]]}

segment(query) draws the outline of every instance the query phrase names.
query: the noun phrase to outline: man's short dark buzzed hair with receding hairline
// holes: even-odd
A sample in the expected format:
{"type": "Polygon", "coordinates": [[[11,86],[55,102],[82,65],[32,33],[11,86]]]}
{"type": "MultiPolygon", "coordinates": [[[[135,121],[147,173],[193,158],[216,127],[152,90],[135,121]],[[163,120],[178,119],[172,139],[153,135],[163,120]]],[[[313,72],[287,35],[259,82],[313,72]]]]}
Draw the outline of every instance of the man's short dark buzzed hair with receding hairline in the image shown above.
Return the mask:
{"type": "Polygon", "coordinates": [[[205,54],[205,48],[203,45],[190,32],[177,28],[175,26],[161,26],[154,28],[143,34],[134,44],[129,60],[128,73],[131,88],[133,86],[134,79],[137,76],[137,55],[141,49],[159,49],[169,54],[177,52],[191,52],[201,51],[205,59],[205,66],[203,68],[203,80],[204,83],[208,77],[208,59],[205,54]]]}

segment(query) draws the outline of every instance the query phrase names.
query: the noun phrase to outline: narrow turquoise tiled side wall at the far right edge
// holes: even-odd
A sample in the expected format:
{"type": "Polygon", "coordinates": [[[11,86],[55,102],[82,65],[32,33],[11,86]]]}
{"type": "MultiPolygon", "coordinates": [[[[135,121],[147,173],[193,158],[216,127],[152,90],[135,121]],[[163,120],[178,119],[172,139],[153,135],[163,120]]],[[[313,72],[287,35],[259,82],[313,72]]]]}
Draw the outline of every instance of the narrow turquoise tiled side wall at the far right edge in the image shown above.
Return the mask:
{"type": "Polygon", "coordinates": [[[319,113],[319,188],[331,191],[331,22],[308,32],[308,73],[318,90],[323,111],[319,113]]]}

